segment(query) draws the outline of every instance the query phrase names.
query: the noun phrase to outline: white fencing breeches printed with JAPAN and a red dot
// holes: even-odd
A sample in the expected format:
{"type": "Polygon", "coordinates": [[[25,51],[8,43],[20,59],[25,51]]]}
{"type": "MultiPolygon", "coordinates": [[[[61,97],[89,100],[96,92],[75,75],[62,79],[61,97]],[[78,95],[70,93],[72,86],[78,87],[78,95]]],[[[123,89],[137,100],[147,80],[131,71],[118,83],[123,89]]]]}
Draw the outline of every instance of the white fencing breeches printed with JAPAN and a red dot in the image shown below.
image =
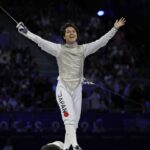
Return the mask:
{"type": "Polygon", "coordinates": [[[62,81],[59,80],[56,87],[56,99],[61,110],[64,124],[72,124],[77,128],[82,104],[81,83],[74,91],[70,91],[70,89],[66,88],[62,81]]]}

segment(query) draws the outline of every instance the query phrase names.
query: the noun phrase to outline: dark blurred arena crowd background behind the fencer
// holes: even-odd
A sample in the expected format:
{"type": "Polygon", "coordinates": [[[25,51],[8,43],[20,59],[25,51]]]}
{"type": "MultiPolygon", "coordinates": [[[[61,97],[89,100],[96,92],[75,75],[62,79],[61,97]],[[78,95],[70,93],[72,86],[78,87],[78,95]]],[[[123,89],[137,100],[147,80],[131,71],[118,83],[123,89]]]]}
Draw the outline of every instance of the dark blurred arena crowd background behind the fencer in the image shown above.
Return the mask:
{"type": "MultiPolygon", "coordinates": [[[[60,27],[74,22],[79,44],[127,22],[109,43],[85,61],[78,141],[87,150],[149,149],[149,0],[1,0],[18,22],[55,43],[60,27]],[[97,147],[97,148],[96,148],[97,147]]],[[[64,126],[55,100],[57,64],[0,10],[0,150],[40,150],[63,141],[64,126]],[[11,146],[8,146],[11,145],[11,146]]]]}

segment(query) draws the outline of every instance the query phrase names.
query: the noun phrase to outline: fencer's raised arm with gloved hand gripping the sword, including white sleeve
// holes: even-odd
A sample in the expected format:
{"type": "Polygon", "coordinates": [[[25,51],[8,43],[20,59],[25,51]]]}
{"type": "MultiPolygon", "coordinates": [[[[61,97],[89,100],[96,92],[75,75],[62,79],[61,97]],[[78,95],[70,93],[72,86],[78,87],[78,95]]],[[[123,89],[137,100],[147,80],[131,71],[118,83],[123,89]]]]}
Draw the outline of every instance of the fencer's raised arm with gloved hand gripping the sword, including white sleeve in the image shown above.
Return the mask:
{"type": "Polygon", "coordinates": [[[18,32],[28,39],[32,40],[45,52],[57,57],[60,53],[61,45],[42,39],[40,36],[30,32],[22,22],[16,26],[18,32]]]}

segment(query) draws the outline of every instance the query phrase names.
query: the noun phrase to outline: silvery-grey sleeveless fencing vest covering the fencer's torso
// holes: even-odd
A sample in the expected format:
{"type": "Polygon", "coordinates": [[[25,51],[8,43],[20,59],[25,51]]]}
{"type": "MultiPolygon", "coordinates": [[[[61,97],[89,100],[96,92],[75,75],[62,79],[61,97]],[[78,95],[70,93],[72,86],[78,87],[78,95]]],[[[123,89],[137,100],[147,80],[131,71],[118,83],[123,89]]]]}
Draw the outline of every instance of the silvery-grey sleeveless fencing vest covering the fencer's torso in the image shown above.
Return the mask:
{"type": "Polygon", "coordinates": [[[70,90],[76,89],[83,76],[84,53],[82,46],[75,44],[62,45],[57,57],[59,76],[70,90]]]}

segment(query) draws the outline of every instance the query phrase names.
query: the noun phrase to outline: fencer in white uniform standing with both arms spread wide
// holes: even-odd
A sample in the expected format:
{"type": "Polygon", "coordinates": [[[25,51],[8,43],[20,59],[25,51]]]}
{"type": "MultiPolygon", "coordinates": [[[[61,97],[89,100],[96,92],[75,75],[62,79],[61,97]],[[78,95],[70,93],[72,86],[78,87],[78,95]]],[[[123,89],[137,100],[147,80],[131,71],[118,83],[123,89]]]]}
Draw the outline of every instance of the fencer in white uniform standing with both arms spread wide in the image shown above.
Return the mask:
{"type": "Polygon", "coordinates": [[[22,23],[17,24],[19,33],[37,43],[48,54],[57,59],[59,76],[56,88],[56,99],[65,125],[63,150],[82,150],[77,141],[76,130],[81,115],[82,81],[84,60],[90,54],[104,47],[118,29],[125,25],[126,19],[116,20],[113,27],[105,35],[91,43],[79,45],[78,28],[73,23],[66,23],[62,27],[64,44],[56,44],[35,35],[22,23]]]}

